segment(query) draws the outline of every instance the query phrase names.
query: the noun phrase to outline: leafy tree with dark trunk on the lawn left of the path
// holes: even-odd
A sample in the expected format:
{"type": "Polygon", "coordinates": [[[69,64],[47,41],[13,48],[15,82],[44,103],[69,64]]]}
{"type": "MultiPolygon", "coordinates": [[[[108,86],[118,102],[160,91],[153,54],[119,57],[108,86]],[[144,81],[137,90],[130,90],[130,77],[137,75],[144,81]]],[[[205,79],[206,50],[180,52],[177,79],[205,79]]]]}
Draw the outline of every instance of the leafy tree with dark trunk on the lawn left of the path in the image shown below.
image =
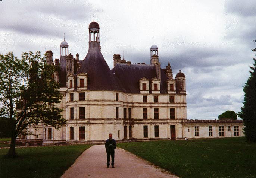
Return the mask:
{"type": "Polygon", "coordinates": [[[11,144],[8,155],[15,157],[16,138],[32,134],[28,125],[37,129],[37,123],[59,128],[66,123],[61,109],[54,107],[61,95],[59,84],[52,78],[54,66],[48,65],[41,53],[12,52],[0,54],[0,117],[11,123],[11,144]]]}

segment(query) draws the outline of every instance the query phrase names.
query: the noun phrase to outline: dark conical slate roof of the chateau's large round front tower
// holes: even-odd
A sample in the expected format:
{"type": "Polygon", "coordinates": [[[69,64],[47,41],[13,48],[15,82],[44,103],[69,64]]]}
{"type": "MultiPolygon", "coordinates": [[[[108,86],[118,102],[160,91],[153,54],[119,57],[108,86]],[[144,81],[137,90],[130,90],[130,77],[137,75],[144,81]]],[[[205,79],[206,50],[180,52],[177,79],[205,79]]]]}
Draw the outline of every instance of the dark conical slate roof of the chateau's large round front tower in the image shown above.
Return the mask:
{"type": "Polygon", "coordinates": [[[118,83],[100,52],[100,43],[97,41],[89,42],[89,50],[81,63],[79,73],[87,73],[88,90],[120,91],[118,83]]]}

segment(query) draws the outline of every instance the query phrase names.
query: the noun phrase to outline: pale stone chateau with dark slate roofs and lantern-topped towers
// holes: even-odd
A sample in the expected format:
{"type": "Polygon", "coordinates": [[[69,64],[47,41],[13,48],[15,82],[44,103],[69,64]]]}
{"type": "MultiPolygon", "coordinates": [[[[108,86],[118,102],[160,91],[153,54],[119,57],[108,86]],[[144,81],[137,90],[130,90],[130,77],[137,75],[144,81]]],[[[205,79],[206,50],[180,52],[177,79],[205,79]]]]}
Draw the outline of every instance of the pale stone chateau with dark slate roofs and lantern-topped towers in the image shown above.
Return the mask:
{"type": "MultiPolygon", "coordinates": [[[[158,47],[150,48],[150,64],[131,62],[113,55],[110,70],[100,46],[100,27],[89,25],[89,48],[84,60],[69,54],[69,45],[60,44],[60,60],[46,51],[46,61],[58,70],[67,124],[59,130],[44,124],[27,139],[43,144],[102,143],[112,133],[119,142],[244,136],[241,120],[187,120],[186,77],[179,71],[174,77],[170,63],[161,68],[158,47]]],[[[104,48],[104,47],[103,47],[104,48]]]]}

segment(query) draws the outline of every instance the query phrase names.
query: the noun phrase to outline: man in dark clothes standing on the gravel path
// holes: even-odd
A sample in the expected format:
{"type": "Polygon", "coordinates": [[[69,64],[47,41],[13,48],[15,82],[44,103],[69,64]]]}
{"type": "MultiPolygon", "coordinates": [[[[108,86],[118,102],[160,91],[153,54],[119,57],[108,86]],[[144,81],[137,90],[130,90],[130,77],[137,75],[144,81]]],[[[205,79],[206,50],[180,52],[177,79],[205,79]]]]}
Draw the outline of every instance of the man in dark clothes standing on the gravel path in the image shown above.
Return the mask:
{"type": "Polygon", "coordinates": [[[111,155],[111,166],[114,167],[115,160],[115,149],[116,149],[116,140],[112,139],[112,133],[109,134],[109,139],[106,140],[105,148],[107,152],[107,168],[109,168],[110,155],[111,155]]]}

